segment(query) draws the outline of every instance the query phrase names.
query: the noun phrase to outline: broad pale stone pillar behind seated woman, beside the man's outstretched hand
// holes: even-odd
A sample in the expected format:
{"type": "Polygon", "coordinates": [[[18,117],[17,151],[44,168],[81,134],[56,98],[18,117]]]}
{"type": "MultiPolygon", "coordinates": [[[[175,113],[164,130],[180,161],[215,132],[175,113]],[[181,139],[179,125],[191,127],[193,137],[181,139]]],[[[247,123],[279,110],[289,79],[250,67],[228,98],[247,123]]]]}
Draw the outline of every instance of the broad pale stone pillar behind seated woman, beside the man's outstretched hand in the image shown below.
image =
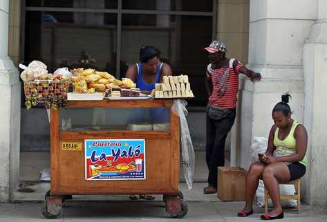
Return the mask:
{"type": "Polygon", "coordinates": [[[292,118],[303,122],[303,44],[316,14],[317,3],[311,0],[250,0],[248,67],[263,79],[252,83],[244,78],[240,83],[239,164],[244,168],[254,137],[268,138],[272,108],[281,94],[292,95],[292,118]]]}

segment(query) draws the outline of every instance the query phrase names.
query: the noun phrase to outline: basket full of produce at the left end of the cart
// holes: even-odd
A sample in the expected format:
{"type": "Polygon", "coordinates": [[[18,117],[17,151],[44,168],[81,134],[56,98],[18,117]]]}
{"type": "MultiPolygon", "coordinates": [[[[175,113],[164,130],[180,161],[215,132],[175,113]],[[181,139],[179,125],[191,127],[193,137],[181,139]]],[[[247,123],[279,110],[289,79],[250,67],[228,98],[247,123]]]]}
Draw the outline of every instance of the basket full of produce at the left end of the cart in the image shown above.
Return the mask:
{"type": "Polygon", "coordinates": [[[68,82],[67,81],[53,81],[53,80],[35,80],[24,83],[25,97],[32,94],[37,94],[38,101],[44,101],[44,97],[63,96],[67,97],[68,82]]]}

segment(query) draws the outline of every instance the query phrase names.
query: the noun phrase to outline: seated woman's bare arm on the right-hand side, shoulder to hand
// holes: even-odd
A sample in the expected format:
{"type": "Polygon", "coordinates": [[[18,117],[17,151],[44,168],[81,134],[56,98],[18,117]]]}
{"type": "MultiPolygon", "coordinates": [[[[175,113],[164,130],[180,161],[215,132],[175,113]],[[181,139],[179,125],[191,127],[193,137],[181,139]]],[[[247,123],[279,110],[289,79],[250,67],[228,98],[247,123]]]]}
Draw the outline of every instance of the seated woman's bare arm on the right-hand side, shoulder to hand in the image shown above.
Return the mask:
{"type": "Polygon", "coordinates": [[[301,161],[304,158],[308,145],[308,134],[304,125],[297,125],[297,128],[294,132],[294,137],[297,141],[296,153],[285,157],[277,157],[277,162],[295,163],[301,161]]]}

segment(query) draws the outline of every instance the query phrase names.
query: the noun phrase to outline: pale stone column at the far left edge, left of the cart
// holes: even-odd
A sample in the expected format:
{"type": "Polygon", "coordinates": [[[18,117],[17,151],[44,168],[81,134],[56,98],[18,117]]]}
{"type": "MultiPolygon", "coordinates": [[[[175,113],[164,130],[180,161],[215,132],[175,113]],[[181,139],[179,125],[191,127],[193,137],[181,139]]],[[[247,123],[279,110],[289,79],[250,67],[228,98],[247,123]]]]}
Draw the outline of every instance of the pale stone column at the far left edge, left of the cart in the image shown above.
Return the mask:
{"type": "Polygon", "coordinates": [[[8,2],[0,1],[0,202],[10,200],[19,176],[21,84],[8,57],[8,2]]]}

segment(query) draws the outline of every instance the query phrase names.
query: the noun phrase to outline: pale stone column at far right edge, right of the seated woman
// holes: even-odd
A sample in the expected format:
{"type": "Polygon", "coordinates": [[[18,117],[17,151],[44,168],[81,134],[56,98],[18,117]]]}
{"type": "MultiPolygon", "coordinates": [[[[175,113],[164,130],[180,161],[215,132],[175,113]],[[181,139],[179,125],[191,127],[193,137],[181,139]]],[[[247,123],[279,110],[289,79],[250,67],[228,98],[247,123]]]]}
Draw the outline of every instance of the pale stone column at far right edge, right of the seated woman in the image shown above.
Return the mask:
{"type": "Polygon", "coordinates": [[[306,81],[304,123],[308,130],[310,165],[310,204],[327,205],[327,1],[317,0],[318,19],[303,46],[303,68],[306,81]]]}

